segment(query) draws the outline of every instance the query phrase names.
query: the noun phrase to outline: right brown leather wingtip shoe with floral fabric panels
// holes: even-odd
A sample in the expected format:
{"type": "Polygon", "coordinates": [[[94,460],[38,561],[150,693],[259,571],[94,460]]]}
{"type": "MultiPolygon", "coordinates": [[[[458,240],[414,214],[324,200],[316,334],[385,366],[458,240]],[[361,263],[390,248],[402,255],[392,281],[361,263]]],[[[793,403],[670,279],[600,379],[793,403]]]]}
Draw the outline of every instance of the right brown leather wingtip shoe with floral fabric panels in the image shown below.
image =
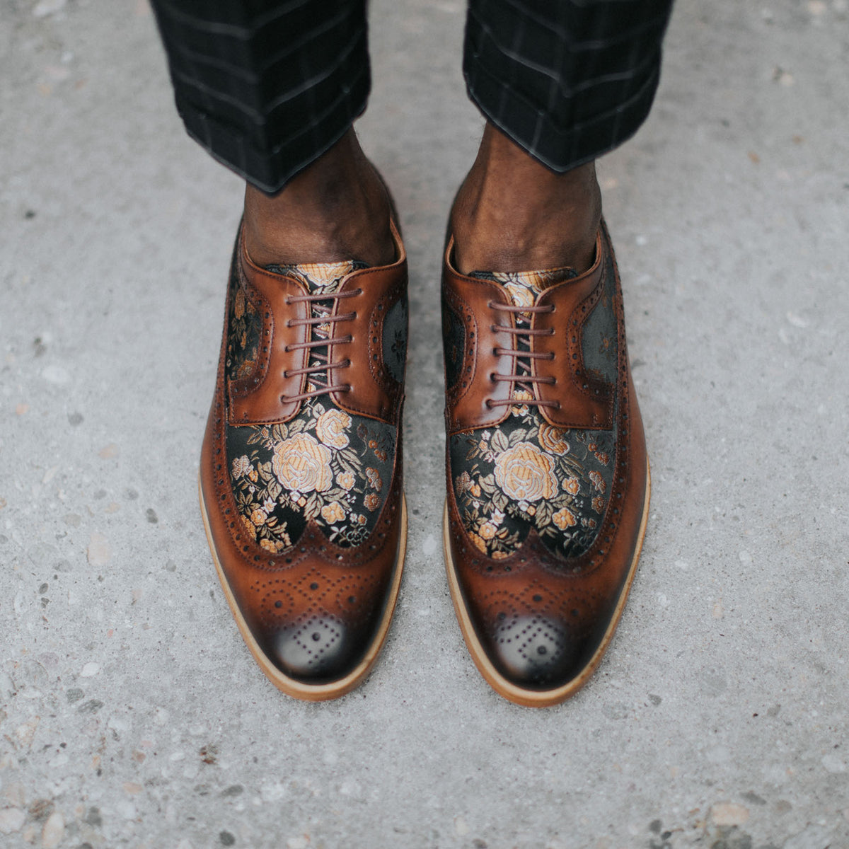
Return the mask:
{"type": "Polygon", "coordinates": [[[649,466],[602,222],[576,276],[442,278],[444,546],[472,658],[520,705],[574,694],[616,629],[645,534],[649,466]],[[552,278],[560,282],[552,283],[552,278]]]}

